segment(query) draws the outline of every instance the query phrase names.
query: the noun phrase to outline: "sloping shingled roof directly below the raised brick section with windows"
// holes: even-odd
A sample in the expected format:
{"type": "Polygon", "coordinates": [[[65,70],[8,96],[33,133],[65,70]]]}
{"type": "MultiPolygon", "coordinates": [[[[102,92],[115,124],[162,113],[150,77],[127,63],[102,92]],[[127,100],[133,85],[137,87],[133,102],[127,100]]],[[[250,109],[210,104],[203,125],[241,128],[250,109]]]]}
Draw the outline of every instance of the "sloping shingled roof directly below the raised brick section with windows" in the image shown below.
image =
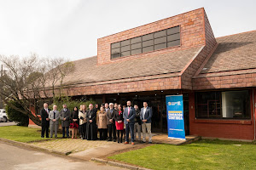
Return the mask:
{"type": "Polygon", "coordinates": [[[166,50],[164,54],[152,52],[147,57],[129,59],[97,65],[97,57],[90,57],[73,61],[75,70],[64,78],[64,84],[104,82],[110,80],[129,79],[133,77],[147,77],[176,73],[183,70],[201,47],[185,48],[173,51],[166,50]]]}

